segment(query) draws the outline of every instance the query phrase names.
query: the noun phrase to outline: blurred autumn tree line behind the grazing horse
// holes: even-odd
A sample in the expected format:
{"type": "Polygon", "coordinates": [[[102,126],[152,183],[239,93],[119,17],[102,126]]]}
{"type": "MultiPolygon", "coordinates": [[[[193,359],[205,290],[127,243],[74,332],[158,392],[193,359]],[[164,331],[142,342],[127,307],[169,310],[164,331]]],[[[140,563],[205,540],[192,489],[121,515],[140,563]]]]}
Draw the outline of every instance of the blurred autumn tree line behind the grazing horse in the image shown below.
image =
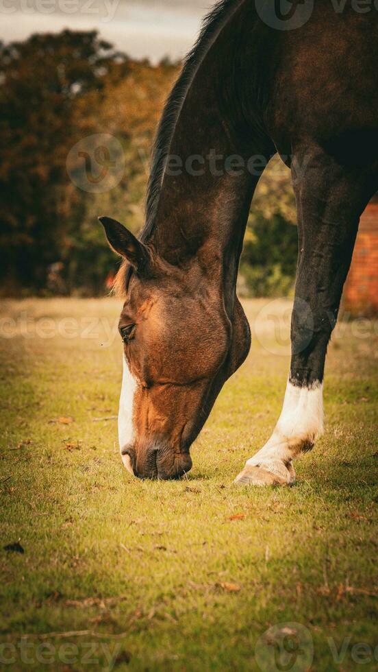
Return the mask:
{"type": "MultiPolygon", "coordinates": [[[[106,291],[116,271],[97,215],[143,224],[149,152],[177,64],[135,62],[97,32],[38,34],[0,43],[1,293],[106,291]],[[75,185],[66,161],[84,137],[120,143],[125,169],[113,189],[75,185]]],[[[283,296],[292,289],[297,230],[288,169],[273,160],[257,189],[241,263],[240,290],[283,296]]]]}

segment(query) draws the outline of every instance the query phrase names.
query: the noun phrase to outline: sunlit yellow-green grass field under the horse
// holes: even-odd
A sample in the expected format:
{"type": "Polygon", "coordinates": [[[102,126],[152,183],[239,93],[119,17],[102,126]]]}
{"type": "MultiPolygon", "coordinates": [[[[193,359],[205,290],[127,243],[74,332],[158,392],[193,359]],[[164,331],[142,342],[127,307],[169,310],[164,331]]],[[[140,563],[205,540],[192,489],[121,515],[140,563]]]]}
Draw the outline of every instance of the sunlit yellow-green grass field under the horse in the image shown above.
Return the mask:
{"type": "Polygon", "coordinates": [[[289,365],[290,304],[245,307],[251,354],[171,483],[118,457],[119,302],[3,303],[0,664],[378,669],[377,324],[337,328],[297,485],[238,488],[289,365]]]}

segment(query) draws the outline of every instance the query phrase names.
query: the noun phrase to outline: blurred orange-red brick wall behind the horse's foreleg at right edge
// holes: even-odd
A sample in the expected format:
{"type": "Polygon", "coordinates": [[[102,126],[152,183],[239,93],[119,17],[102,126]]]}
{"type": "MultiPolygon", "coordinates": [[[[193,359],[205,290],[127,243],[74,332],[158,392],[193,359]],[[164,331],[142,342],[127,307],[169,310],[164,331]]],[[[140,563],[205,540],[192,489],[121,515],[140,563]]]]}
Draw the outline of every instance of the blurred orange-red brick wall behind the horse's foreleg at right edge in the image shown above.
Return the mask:
{"type": "Polygon", "coordinates": [[[370,201],[360,220],[355,251],[344,287],[344,310],[378,314],[378,199],[370,201]]]}

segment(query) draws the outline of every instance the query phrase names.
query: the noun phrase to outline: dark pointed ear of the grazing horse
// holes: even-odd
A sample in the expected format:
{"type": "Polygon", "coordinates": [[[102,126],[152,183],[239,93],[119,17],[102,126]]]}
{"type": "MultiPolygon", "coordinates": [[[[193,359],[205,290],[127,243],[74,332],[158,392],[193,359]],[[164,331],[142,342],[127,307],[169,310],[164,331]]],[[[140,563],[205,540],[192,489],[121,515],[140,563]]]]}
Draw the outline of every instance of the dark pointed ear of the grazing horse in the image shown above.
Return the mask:
{"type": "Polygon", "coordinates": [[[143,271],[150,260],[146,245],[138,241],[131,231],[116,219],[99,217],[99,221],[105,229],[105,235],[112,250],[124,256],[137,271],[143,271]]]}

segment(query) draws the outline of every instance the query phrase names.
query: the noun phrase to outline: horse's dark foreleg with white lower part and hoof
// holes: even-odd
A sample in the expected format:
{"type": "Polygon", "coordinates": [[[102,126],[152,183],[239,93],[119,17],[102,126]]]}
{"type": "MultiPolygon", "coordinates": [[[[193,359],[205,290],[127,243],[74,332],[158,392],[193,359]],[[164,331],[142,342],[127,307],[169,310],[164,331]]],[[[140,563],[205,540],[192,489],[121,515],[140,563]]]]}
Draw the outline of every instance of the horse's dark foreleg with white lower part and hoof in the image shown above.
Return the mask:
{"type": "Polygon", "coordinates": [[[299,260],[292,311],[292,359],[281,416],[268,442],[236,483],[294,482],[292,460],[323,433],[323,374],[342,287],[351,263],[360,215],[377,189],[373,169],[340,166],[318,147],[299,150],[307,165],[293,186],[297,200],[299,260]]]}

